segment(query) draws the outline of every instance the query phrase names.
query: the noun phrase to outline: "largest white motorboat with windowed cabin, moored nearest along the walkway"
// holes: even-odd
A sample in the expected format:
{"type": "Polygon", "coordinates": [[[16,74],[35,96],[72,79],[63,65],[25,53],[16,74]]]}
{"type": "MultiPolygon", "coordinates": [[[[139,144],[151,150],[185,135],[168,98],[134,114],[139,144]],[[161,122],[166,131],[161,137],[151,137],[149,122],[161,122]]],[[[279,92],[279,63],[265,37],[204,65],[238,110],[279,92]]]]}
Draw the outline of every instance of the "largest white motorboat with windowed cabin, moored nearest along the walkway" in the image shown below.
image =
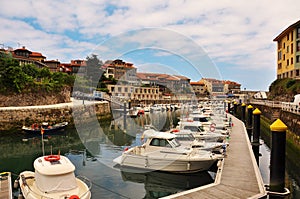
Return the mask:
{"type": "Polygon", "coordinates": [[[146,170],[191,173],[208,170],[220,154],[180,145],[176,135],[167,132],[146,130],[146,142],[124,151],[113,161],[121,167],[146,170]]]}

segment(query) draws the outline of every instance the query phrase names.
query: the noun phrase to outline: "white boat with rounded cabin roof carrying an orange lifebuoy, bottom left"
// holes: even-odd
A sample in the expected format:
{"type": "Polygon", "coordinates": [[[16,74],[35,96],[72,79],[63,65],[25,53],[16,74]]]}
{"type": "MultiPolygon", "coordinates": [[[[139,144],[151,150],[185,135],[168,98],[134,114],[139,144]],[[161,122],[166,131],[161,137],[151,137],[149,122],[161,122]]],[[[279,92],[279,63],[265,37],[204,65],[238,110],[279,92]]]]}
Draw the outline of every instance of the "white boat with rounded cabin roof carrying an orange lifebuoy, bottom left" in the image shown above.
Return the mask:
{"type": "Polygon", "coordinates": [[[91,198],[91,181],[75,177],[75,166],[67,157],[42,156],[34,161],[33,166],[35,172],[23,171],[18,179],[25,199],[91,198]]]}

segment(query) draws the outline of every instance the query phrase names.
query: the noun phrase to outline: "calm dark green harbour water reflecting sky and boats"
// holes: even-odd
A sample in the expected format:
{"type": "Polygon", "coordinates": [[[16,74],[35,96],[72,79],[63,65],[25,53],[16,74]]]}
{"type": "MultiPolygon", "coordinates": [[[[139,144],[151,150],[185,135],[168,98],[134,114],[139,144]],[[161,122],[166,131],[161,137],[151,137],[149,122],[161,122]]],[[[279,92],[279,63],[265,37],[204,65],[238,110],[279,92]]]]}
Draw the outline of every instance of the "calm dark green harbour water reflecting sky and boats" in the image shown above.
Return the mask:
{"type": "MultiPolygon", "coordinates": [[[[136,126],[151,124],[166,130],[175,126],[180,117],[179,111],[146,113],[142,117],[127,119],[128,128],[135,125],[135,132],[124,133],[117,127],[120,123],[101,121],[103,134],[85,132],[89,136],[78,134],[78,128],[69,127],[59,135],[44,137],[45,153],[65,154],[76,166],[76,174],[88,177],[93,182],[92,198],[159,198],[183,190],[212,183],[214,172],[193,174],[170,174],[163,172],[141,172],[120,170],[112,159],[122,153],[126,147],[141,142],[141,132],[136,126]]],[[[115,117],[116,118],[116,117],[115,117]]],[[[270,149],[261,140],[259,167],[265,184],[269,182],[270,149]]],[[[17,174],[24,170],[33,170],[33,161],[42,155],[41,137],[28,138],[21,131],[1,132],[0,170],[17,174]]],[[[287,165],[289,163],[287,162],[287,165]]],[[[299,168],[287,166],[287,184],[291,190],[289,198],[300,198],[299,168]],[[298,173],[298,176],[297,176],[298,173]]],[[[15,190],[15,195],[18,190],[15,190]]]]}

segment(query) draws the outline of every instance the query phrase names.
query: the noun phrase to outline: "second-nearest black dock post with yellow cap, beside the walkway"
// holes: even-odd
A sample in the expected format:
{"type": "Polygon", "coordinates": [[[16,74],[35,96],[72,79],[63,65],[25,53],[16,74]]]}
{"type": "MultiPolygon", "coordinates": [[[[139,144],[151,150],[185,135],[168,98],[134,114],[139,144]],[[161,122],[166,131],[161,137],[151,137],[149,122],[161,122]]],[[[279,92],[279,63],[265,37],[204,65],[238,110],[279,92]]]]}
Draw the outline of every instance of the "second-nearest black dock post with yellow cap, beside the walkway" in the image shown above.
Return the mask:
{"type": "Polygon", "coordinates": [[[259,137],[260,137],[260,115],[261,111],[256,108],[253,111],[254,115],[254,124],[253,124],[253,141],[252,141],[252,150],[256,159],[257,165],[259,165],[259,137]]]}

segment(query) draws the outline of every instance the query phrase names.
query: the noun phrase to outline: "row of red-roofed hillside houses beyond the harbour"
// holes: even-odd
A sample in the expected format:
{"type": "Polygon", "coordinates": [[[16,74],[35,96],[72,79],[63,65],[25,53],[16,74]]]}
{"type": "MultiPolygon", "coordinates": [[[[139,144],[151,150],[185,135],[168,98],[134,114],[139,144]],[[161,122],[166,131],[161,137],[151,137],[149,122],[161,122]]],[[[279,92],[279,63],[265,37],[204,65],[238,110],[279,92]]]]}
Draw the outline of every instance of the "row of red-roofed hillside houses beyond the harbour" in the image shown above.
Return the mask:
{"type": "MultiPolygon", "coordinates": [[[[47,60],[40,52],[28,50],[25,46],[18,49],[0,49],[10,53],[13,58],[22,64],[34,64],[38,68],[47,67],[52,72],[65,72],[70,75],[84,76],[87,72],[87,62],[84,59],[71,60],[69,63],[61,63],[59,60],[47,60]]],[[[137,72],[133,63],[121,59],[107,60],[99,66],[108,79],[116,80],[117,84],[109,85],[108,94],[115,97],[139,100],[155,100],[172,96],[197,96],[237,94],[241,84],[233,81],[202,78],[198,82],[181,75],[143,73],[137,72]]],[[[111,82],[112,83],[112,82],[111,82]]],[[[106,82],[105,82],[106,84],[106,82]]]]}

